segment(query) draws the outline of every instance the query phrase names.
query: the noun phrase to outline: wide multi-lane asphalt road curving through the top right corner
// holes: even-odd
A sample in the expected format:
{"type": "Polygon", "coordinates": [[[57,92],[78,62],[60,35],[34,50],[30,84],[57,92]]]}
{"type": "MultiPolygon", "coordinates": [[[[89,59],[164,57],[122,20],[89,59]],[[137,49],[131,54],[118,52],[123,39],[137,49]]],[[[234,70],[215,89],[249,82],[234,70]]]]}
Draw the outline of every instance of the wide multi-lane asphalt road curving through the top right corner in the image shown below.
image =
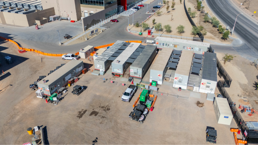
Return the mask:
{"type": "MultiPolygon", "coordinates": [[[[213,13],[225,24],[233,29],[236,16],[242,13],[233,5],[230,0],[207,0],[207,3],[213,13]]],[[[257,58],[258,46],[258,25],[255,21],[248,18],[245,14],[237,17],[235,29],[233,31],[245,44],[233,46],[241,55],[244,53],[245,58],[257,58]]],[[[233,44],[234,45],[234,44],[233,44]]]]}

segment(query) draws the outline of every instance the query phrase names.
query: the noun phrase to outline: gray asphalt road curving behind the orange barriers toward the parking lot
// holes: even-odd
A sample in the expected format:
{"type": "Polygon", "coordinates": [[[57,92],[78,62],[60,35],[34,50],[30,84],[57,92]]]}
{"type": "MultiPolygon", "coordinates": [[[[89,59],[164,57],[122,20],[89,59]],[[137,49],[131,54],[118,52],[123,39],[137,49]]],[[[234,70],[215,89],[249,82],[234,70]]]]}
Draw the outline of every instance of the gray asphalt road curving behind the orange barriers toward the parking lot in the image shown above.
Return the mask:
{"type": "MultiPolygon", "coordinates": [[[[151,4],[148,4],[148,9],[150,9],[150,7],[156,6],[157,4],[158,4],[158,0],[155,0],[151,4]]],[[[138,12],[134,14],[134,22],[136,22],[136,20],[142,20],[143,19],[142,16],[146,14],[147,4],[143,4],[143,5],[144,7],[142,7],[140,10],[138,10],[138,12]]],[[[75,45],[68,45],[68,46],[58,45],[59,39],[58,39],[58,34],[56,30],[53,30],[55,32],[55,34],[53,35],[53,33],[50,33],[50,32],[44,33],[44,31],[39,33],[39,31],[38,32],[35,31],[35,28],[33,27],[15,28],[15,27],[8,27],[8,26],[2,25],[2,29],[0,29],[0,36],[9,37],[9,39],[14,37],[15,38],[14,41],[18,42],[23,47],[37,49],[45,53],[76,53],[80,50],[80,48],[84,48],[88,45],[100,46],[100,45],[113,43],[118,40],[120,41],[142,40],[143,41],[143,37],[132,35],[127,32],[126,30],[126,27],[128,25],[127,18],[129,18],[129,23],[131,24],[133,22],[132,15],[129,17],[121,16],[119,18],[119,22],[117,24],[114,24],[114,26],[109,26],[109,28],[106,29],[104,33],[101,33],[100,35],[88,41],[75,44],[75,45]]],[[[57,21],[57,23],[60,23],[60,21],[57,21]]],[[[81,22],[78,22],[78,25],[80,23],[81,22]]],[[[109,23],[113,23],[113,22],[109,22],[109,23]]],[[[71,25],[71,23],[64,25],[63,27],[65,28],[63,29],[70,29],[70,31],[74,29],[74,27],[72,26],[68,27],[67,25],[71,25]]],[[[109,24],[109,25],[112,25],[112,24],[109,24]]],[[[55,28],[55,29],[58,29],[58,28],[55,28]]],[[[59,29],[61,29],[61,27],[59,29]]],[[[82,28],[79,30],[82,31],[82,28]]],[[[61,37],[63,37],[62,35],[60,34],[61,37]]],[[[149,38],[149,39],[154,40],[153,38],[149,38]]]]}

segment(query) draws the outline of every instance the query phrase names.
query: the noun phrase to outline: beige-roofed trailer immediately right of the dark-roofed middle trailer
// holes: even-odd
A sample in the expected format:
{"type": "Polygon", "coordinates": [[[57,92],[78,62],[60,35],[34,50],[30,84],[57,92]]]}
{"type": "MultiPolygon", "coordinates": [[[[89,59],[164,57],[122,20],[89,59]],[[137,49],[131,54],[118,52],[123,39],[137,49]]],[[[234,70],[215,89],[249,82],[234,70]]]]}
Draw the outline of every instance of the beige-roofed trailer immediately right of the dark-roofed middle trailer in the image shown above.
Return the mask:
{"type": "Polygon", "coordinates": [[[164,47],[162,51],[159,52],[156,61],[151,66],[150,82],[155,80],[158,84],[162,84],[167,71],[166,65],[168,64],[172,51],[173,49],[164,47]]]}

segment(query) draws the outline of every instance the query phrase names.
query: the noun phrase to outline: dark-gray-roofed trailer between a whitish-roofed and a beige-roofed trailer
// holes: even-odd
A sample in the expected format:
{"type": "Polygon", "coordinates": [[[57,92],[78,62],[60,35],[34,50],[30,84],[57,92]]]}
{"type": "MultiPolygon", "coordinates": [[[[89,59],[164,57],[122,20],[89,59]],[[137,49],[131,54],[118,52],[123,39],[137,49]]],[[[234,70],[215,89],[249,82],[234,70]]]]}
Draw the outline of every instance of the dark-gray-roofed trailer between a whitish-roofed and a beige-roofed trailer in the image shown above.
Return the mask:
{"type": "Polygon", "coordinates": [[[143,52],[135,59],[130,66],[130,76],[136,79],[142,79],[156,57],[157,46],[146,45],[143,52]]]}

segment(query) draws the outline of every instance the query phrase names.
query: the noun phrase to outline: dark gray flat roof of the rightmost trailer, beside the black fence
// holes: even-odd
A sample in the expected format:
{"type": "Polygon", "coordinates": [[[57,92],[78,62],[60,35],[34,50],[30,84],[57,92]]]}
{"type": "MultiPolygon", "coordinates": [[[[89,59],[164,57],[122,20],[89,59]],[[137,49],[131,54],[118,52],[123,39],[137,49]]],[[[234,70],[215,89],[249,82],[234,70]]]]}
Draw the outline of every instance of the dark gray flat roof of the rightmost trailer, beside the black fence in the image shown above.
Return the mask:
{"type": "Polygon", "coordinates": [[[217,82],[217,56],[216,53],[204,52],[202,78],[217,82]]]}

